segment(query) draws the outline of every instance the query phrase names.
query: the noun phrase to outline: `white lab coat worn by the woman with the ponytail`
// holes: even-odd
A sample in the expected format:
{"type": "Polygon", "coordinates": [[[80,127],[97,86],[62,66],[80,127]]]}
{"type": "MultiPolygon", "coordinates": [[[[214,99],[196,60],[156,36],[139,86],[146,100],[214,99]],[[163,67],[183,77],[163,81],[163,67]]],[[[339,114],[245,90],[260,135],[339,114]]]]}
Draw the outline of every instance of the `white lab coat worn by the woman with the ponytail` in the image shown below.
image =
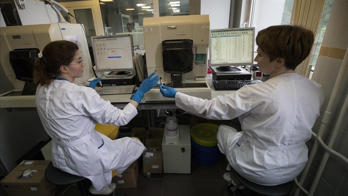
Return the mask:
{"type": "Polygon", "coordinates": [[[111,140],[94,130],[96,122],[126,125],[137,114],[132,104],[120,110],[94,89],[65,80],[38,86],[35,103],[53,141],[53,166],[85,176],[97,190],[111,183],[112,170],[122,173],[145,150],[136,139],[111,140]]]}

